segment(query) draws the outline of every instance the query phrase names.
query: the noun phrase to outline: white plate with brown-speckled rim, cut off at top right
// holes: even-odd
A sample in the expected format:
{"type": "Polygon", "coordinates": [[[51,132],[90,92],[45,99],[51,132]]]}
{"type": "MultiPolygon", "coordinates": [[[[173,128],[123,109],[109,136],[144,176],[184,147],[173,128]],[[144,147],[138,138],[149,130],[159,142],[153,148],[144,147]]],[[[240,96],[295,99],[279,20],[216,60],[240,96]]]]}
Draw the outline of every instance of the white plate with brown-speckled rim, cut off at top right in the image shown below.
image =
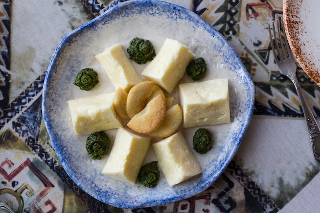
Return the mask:
{"type": "Polygon", "coordinates": [[[320,86],[320,2],[285,0],[283,20],[292,52],[306,74],[320,86]]]}

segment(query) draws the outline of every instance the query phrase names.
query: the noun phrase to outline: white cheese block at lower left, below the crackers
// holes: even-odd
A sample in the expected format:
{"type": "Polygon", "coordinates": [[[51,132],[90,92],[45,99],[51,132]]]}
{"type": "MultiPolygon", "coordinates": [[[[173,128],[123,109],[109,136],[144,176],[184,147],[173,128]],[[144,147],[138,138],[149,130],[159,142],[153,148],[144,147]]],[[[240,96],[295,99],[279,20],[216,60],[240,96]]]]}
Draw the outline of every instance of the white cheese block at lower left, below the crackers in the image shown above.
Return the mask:
{"type": "Polygon", "coordinates": [[[102,174],[135,184],[146,157],[150,139],[151,137],[136,135],[128,129],[119,128],[102,174]]]}

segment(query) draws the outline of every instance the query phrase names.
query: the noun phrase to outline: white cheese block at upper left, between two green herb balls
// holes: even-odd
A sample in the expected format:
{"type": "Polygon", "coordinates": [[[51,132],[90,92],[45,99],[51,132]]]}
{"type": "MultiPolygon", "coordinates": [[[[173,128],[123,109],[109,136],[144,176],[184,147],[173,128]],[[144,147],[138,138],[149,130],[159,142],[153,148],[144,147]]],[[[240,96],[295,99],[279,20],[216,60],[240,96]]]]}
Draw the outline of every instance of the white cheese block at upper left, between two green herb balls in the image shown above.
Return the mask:
{"type": "Polygon", "coordinates": [[[116,90],[121,87],[128,92],[132,86],[142,82],[120,44],[110,46],[96,58],[116,90]]]}

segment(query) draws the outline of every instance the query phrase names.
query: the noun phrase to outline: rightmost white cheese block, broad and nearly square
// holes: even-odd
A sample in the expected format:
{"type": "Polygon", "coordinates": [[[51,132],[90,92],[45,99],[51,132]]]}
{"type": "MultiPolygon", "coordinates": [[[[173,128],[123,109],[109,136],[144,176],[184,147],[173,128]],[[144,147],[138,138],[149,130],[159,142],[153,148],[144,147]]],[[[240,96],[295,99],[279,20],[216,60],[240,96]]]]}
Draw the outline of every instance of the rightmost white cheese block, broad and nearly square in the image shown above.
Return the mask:
{"type": "Polygon", "coordinates": [[[184,128],[230,123],[227,79],[179,85],[184,128]]]}

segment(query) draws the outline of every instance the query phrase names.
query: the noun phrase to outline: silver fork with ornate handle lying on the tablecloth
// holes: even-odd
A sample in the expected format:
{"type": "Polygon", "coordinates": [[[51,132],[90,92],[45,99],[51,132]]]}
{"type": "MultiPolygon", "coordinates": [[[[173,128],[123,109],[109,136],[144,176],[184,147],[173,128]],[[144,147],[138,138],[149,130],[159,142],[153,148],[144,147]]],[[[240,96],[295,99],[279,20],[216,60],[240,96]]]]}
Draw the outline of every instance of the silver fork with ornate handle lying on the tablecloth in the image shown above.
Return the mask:
{"type": "Polygon", "coordinates": [[[307,122],[313,155],[317,162],[320,163],[320,130],[298,82],[298,78],[296,78],[295,72],[297,66],[283,28],[282,17],[277,19],[278,36],[273,21],[272,28],[270,27],[270,23],[268,23],[268,28],[276,64],[280,73],[287,76],[294,84],[307,122]],[[275,42],[273,42],[273,40],[275,40],[275,42]]]}

